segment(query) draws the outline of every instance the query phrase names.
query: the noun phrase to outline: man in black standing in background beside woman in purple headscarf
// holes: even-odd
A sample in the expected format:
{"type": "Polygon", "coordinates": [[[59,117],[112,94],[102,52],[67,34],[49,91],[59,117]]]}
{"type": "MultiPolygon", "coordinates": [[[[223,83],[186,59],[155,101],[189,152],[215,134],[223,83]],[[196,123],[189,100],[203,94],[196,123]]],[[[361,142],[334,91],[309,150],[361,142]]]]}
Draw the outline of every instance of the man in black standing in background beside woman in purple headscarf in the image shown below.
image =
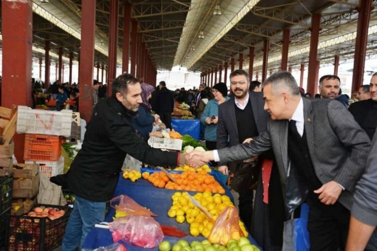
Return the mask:
{"type": "Polygon", "coordinates": [[[166,128],[171,129],[171,112],[174,110],[174,96],[173,93],[166,88],[165,81],[161,81],[159,87],[156,112],[160,115],[160,119],[165,124],[166,128]]]}

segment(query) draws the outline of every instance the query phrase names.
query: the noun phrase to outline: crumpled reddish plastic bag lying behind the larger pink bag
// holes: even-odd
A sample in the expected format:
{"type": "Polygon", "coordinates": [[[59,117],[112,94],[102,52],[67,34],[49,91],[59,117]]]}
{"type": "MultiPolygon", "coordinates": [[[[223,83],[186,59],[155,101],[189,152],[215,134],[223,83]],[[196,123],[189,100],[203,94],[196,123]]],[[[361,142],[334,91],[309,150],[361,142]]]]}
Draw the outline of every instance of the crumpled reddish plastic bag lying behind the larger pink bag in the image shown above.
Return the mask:
{"type": "Polygon", "coordinates": [[[117,211],[122,211],[126,215],[146,215],[146,216],[157,216],[157,214],[152,213],[148,208],[140,206],[136,201],[128,197],[127,195],[119,195],[110,200],[110,205],[117,211]],[[118,202],[118,205],[113,205],[113,203],[118,202]]]}

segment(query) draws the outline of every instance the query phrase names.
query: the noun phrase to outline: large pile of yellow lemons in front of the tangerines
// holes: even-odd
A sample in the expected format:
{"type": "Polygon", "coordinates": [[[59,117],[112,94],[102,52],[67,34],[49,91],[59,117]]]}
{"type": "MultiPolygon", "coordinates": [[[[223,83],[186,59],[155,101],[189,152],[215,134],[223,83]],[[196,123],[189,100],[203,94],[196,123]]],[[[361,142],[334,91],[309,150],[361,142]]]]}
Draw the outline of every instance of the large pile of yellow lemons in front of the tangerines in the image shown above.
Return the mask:
{"type": "MultiPolygon", "coordinates": [[[[209,219],[198,207],[196,207],[190,200],[186,193],[176,192],[171,196],[172,205],[167,212],[171,218],[175,217],[178,223],[183,223],[184,220],[190,224],[190,234],[198,236],[202,234],[208,237],[213,228],[214,222],[227,206],[234,207],[230,198],[227,195],[214,194],[205,191],[197,193],[193,196],[211,215],[209,219]]],[[[243,234],[247,237],[248,233],[242,221],[239,221],[240,228],[243,234]]]]}

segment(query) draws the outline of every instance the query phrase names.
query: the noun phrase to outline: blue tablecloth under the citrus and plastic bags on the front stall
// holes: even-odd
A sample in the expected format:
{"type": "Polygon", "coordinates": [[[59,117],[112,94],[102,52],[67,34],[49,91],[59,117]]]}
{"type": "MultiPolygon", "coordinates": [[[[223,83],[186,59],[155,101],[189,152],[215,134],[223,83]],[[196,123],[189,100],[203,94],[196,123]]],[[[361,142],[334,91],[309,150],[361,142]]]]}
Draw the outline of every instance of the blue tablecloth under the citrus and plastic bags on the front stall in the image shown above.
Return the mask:
{"type": "MultiPolygon", "coordinates": [[[[194,237],[190,235],[190,225],[186,222],[179,224],[175,221],[175,218],[170,218],[167,216],[167,211],[171,206],[171,196],[176,192],[176,190],[167,190],[154,187],[147,180],[138,180],[135,183],[132,183],[130,180],[125,180],[120,176],[117,188],[114,193],[114,197],[125,194],[135,200],[142,206],[145,206],[155,214],[158,214],[155,217],[155,220],[163,225],[175,226],[178,229],[186,232],[188,235],[183,239],[191,242],[193,240],[204,240],[203,236],[194,237]]],[[[195,194],[196,192],[189,192],[190,194],[195,194]]],[[[229,190],[227,190],[227,194],[229,190]]],[[[233,197],[231,197],[233,199],[233,197]]],[[[252,213],[252,212],[250,212],[252,213]]],[[[105,221],[113,221],[112,217],[115,215],[115,210],[110,208],[108,215],[105,218],[105,221]]],[[[256,244],[255,240],[249,235],[251,243],[256,244]]],[[[165,236],[164,240],[170,241],[171,244],[176,243],[179,238],[165,236]]],[[[97,248],[100,246],[108,246],[113,243],[112,235],[109,229],[103,228],[93,228],[87,235],[83,248],[97,248]]],[[[122,242],[124,243],[124,242],[122,242]]],[[[132,245],[130,243],[124,243],[129,250],[143,250],[138,246],[132,245]]],[[[152,250],[158,250],[158,247],[153,248],[152,250]]]]}

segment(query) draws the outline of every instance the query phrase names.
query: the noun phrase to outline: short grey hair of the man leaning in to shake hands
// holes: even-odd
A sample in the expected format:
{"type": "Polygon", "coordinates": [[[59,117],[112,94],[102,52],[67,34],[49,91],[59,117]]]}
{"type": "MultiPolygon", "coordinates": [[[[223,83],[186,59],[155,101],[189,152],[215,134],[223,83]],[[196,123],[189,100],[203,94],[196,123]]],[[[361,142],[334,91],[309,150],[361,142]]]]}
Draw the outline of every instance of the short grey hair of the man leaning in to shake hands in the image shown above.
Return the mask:
{"type": "Polygon", "coordinates": [[[278,94],[277,90],[281,87],[288,88],[292,96],[301,95],[296,79],[289,71],[278,71],[273,73],[266,80],[264,80],[262,83],[262,89],[267,84],[271,84],[271,90],[274,95],[278,94]]]}

